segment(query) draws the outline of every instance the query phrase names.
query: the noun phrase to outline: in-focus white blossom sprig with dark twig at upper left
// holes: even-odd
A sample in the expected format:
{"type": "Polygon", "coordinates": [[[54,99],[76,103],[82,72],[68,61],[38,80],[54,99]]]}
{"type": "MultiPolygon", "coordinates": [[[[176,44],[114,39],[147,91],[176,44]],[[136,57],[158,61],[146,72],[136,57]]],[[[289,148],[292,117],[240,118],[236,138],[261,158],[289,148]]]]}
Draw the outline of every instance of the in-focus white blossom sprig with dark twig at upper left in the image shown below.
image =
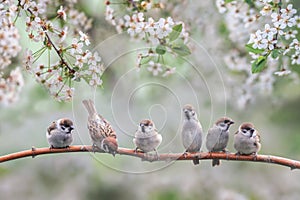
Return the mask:
{"type": "Polygon", "coordinates": [[[56,100],[69,101],[74,95],[76,81],[84,80],[95,87],[102,84],[103,65],[97,52],[85,50],[90,41],[80,27],[89,29],[91,21],[74,10],[74,2],[59,6],[54,17],[49,19],[47,16],[51,15],[46,12],[49,3],[18,1],[18,16],[26,15],[28,38],[42,45],[36,51],[26,50],[24,67],[56,100]],[[82,18],[76,20],[76,13],[82,18]],[[68,42],[67,38],[73,39],[68,42]]]}

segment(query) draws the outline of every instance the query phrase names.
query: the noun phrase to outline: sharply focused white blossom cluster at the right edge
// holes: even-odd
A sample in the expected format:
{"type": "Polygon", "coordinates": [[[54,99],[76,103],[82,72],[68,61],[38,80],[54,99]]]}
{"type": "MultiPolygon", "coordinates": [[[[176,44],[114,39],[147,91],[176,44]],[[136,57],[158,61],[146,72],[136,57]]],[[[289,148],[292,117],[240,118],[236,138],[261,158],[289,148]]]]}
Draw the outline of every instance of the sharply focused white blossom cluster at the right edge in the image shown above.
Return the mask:
{"type": "MultiPolygon", "coordinates": [[[[271,7],[269,3],[269,1],[263,2],[264,7],[271,7]]],[[[288,56],[292,64],[300,64],[300,60],[295,59],[300,54],[299,48],[296,47],[299,44],[296,38],[298,34],[296,27],[300,26],[296,21],[299,16],[295,16],[297,11],[292,4],[287,5],[286,8],[277,5],[274,9],[277,12],[265,12],[264,10],[260,12],[263,16],[270,16],[272,24],[265,24],[263,30],[257,30],[250,35],[249,52],[255,53],[252,64],[253,72],[260,72],[265,67],[258,61],[266,60],[268,56],[273,59],[288,56]],[[258,58],[256,58],[257,55],[259,55],[258,58]]]]}

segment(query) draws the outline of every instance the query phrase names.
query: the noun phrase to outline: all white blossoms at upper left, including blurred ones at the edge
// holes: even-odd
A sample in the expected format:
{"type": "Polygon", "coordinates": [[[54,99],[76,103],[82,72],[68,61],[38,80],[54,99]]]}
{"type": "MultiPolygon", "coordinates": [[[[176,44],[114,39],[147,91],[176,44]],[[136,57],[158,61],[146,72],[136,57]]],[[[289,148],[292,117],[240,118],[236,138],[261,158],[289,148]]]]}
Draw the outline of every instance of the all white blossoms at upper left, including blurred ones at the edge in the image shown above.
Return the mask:
{"type": "MultiPolygon", "coordinates": [[[[76,3],[68,1],[63,6],[59,1],[48,0],[1,3],[0,52],[3,51],[5,57],[0,58],[0,80],[1,85],[6,85],[4,89],[0,88],[0,103],[13,102],[14,99],[8,97],[16,96],[17,92],[13,93],[11,88],[19,91],[22,87],[22,84],[10,86],[12,84],[8,83],[12,81],[6,80],[8,75],[1,73],[4,69],[12,70],[11,67],[8,69],[11,59],[21,50],[15,26],[18,20],[22,21],[29,41],[40,46],[26,50],[23,65],[56,100],[71,100],[74,82],[84,80],[93,87],[102,84],[104,67],[101,58],[98,52],[85,49],[90,41],[84,32],[91,28],[92,20],[76,9],[76,3]]],[[[20,70],[16,72],[20,73],[20,70]]],[[[22,77],[21,73],[18,77],[22,77]]],[[[18,82],[23,83],[22,80],[18,82]]]]}

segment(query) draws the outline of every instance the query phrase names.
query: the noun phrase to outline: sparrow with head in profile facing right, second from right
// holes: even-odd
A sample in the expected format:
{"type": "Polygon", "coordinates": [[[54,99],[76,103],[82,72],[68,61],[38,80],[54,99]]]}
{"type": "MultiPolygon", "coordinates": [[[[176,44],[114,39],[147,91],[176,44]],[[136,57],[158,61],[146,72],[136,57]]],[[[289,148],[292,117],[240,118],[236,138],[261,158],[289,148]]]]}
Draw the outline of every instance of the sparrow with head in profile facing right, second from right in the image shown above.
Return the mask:
{"type": "MultiPolygon", "coordinates": [[[[228,117],[222,117],[216,121],[212,128],[208,130],[206,136],[206,148],[209,152],[226,152],[229,139],[229,128],[234,121],[228,117]]],[[[219,159],[212,160],[212,166],[220,165],[219,159]]]]}

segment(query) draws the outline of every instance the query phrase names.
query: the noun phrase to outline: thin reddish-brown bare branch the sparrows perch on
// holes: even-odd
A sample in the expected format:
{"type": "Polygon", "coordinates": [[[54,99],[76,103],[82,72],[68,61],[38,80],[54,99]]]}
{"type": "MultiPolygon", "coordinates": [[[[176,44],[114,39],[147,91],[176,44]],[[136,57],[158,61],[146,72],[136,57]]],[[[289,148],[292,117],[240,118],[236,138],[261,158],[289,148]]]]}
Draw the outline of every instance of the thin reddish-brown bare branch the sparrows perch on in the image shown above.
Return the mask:
{"type": "MultiPolygon", "coordinates": [[[[35,157],[37,155],[43,154],[56,154],[56,153],[71,153],[71,152],[93,152],[92,146],[76,145],[70,146],[69,148],[62,149],[50,149],[48,147],[44,148],[34,148],[30,150],[20,151],[16,153],[7,154],[0,156],[0,163],[15,160],[24,157],[35,157]]],[[[97,151],[98,153],[104,153],[103,151],[97,151]]],[[[221,159],[221,160],[233,160],[233,161],[251,161],[251,162],[262,162],[277,164],[282,166],[290,167],[291,169],[300,169],[300,162],[296,160],[291,160],[283,157],[272,156],[272,155],[236,155],[234,153],[161,153],[156,154],[145,154],[142,152],[135,152],[134,149],[119,148],[117,154],[128,155],[141,158],[143,161],[172,161],[172,160],[211,160],[211,159],[221,159]]]]}

